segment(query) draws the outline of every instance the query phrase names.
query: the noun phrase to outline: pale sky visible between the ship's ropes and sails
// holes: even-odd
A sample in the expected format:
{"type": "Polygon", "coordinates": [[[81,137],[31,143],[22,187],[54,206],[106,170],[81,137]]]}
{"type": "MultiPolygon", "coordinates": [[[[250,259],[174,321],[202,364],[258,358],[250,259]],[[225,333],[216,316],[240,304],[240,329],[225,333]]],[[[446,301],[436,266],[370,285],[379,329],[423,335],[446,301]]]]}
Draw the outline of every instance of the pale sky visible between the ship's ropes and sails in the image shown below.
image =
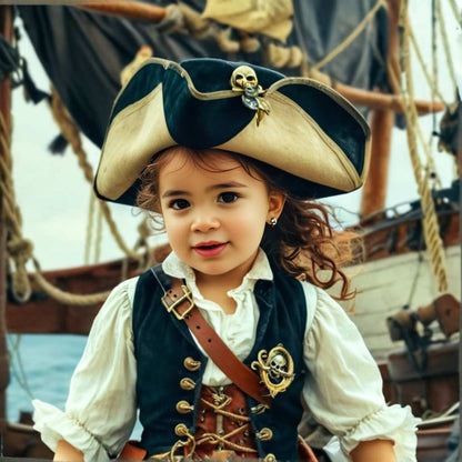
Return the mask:
{"type": "MultiPolygon", "coordinates": [[[[411,1],[411,20],[425,62],[431,66],[431,0],[411,1]]],[[[460,53],[462,47],[461,31],[449,2],[443,1],[443,16],[448,23],[453,54],[460,53]],[[458,46],[459,38],[459,46],[458,46]]],[[[20,52],[29,63],[31,74],[41,89],[49,89],[49,80],[41,68],[26,32],[19,43],[20,52]]],[[[442,54],[442,53],[441,53],[442,54]]],[[[462,54],[462,53],[460,53],[462,54]]],[[[440,56],[439,78],[444,98],[452,102],[453,86],[446,71],[443,56],[440,56]]],[[[462,62],[459,57],[458,62],[462,62]]],[[[415,94],[419,99],[430,99],[430,90],[419,72],[419,64],[413,60],[415,94]]],[[[24,102],[22,90],[13,92],[13,181],[17,201],[23,220],[23,235],[34,245],[34,255],[42,269],[61,269],[84,263],[86,238],[91,185],[84,180],[78,167],[77,157],[70,148],[64,155],[52,155],[47,145],[58,134],[59,129],[51,118],[46,103],[33,106],[24,102]]],[[[430,137],[432,117],[422,118],[423,132],[430,137]]],[[[97,168],[99,150],[84,140],[84,148],[93,168],[97,168]]],[[[418,198],[416,184],[408,153],[406,138],[403,131],[393,130],[388,184],[386,207],[403,203],[418,198]]],[[[432,153],[436,172],[442,185],[449,187],[455,177],[454,162],[449,154],[436,150],[432,143],[432,153]]],[[[342,208],[340,217],[345,223],[353,223],[359,211],[361,192],[332,198],[329,203],[342,208]]],[[[135,209],[111,204],[118,227],[129,247],[137,240],[137,225],[140,214],[135,209]]],[[[123,257],[106,225],[102,228],[100,261],[123,257]]]]}

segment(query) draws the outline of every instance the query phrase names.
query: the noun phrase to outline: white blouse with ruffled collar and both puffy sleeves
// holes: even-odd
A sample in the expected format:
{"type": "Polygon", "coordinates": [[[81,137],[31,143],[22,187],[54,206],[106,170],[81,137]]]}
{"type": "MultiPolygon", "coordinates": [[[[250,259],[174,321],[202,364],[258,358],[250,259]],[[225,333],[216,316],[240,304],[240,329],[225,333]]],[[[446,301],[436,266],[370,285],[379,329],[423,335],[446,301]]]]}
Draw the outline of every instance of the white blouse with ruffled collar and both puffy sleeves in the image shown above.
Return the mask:
{"type": "MultiPolygon", "coordinates": [[[[242,284],[228,292],[237,302],[232,314],[201,295],[194,272],[174,253],[162,268],[171,277],[185,279],[201,313],[243,360],[253,345],[259,320],[253,287],[259,279],[273,279],[264,252],[259,252],[242,284]]],[[[82,451],[86,462],[106,462],[130,438],[137,416],[131,323],[137,281],[133,278],[119,284],[94,319],[71,379],[66,412],[39,400],[32,402],[34,428],[52,451],[62,439],[82,451]]],[[[340,443],[343,454],[361,441],[388,439],[394,441],[398,462],[415,461],[419,419],[409,406],[385,404],[379,369],[343,309],[322,289],[309,282],[301,284],[308,311],[303,351],[309,373],[303,395],[313,416],[337,435],[337,446],[340,443]]],[[[209,360],[203,383],[222,385],[230,380],[209,360]]],[[[333,460],[348,459],[333,455],[333,460]]]]}

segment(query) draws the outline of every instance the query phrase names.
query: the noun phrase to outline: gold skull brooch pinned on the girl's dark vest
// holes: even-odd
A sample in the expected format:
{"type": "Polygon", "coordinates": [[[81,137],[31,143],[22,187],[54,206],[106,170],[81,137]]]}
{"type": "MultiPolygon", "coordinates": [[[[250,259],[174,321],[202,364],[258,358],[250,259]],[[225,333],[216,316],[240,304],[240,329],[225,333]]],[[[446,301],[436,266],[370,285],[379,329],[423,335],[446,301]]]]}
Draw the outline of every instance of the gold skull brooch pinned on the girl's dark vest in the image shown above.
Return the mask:
{"type": "Polygon", "coordinates": [[[260,350],[258,361],[253,361],[251,368],[259,371],[271,398],[284,392],[295,376],[292,356],[282,343],[274,346],[269,353],[267,350],[260,350]]]}

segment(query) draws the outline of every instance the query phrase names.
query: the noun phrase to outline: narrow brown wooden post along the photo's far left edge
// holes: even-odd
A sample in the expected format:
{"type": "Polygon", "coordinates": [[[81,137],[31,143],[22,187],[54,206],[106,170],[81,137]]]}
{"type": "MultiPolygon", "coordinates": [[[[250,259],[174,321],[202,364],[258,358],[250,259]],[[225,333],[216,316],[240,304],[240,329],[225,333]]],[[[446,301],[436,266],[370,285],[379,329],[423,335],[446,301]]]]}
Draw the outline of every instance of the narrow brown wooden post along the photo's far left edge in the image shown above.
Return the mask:
{"type": "MultiPolygon", "coordinates": [[[[0,7],[0,30],[3,38],[12,40],[12,16],[11,7],[0,7]]],[[[4,119],[8,130],[11,128],[11,86],[7,78],[0,83],[0,111],[4,119]]],[[[0,145],[0,155],[4,159],[0,145]]],[[[3,181],[3,179],[1,179],[3,181]]],[[[7,400],[6,390],[10,380],[9,361],[7,352],[7,227],[3,209],[3,197],[0,189],[0,434],[6,434],[7,429],[7,400]]],[[[1,453],[0,453],[1,455],[1,453]]]]}

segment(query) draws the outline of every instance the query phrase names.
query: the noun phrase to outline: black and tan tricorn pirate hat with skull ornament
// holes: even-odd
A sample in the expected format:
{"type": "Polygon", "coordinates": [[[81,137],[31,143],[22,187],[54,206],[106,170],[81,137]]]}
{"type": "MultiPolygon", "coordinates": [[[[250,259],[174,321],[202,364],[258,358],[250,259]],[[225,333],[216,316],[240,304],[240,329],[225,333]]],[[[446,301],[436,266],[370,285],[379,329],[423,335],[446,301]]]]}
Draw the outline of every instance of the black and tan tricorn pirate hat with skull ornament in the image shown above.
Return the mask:
{"type": "Polygon", "coordinates": [[[350,102],[312,79],[219,59],[152,58],[116,99],[97,195],[134,204],[143,169],[177,144],[264,162],[282,189],[319,199],[363,184],[370,129],[350,102]]]}

